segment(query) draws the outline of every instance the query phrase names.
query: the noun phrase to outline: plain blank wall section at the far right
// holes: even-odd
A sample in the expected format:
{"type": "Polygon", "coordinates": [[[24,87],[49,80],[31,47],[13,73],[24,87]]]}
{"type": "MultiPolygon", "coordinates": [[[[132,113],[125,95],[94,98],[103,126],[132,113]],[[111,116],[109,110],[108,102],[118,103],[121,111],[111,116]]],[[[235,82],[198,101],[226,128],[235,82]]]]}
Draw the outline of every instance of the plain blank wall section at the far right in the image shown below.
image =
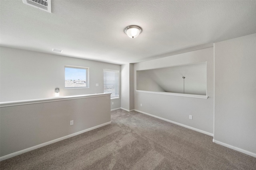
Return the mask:
{"type": "Polygon", "coordinates": [[[214,140],[256,153],[256,34],[214,49],[214,140]]]}

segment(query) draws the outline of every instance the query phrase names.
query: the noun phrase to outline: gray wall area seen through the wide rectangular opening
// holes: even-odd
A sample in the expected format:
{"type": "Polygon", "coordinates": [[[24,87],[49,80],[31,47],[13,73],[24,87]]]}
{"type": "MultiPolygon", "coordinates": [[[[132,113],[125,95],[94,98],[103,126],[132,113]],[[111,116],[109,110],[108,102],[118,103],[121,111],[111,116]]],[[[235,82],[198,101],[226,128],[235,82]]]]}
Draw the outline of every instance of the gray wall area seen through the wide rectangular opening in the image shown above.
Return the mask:
{"type": "Polygon", "coordinates": [[[206,95],[206,73],[206,62],[139,70],[137,90],[206,95]]]}

